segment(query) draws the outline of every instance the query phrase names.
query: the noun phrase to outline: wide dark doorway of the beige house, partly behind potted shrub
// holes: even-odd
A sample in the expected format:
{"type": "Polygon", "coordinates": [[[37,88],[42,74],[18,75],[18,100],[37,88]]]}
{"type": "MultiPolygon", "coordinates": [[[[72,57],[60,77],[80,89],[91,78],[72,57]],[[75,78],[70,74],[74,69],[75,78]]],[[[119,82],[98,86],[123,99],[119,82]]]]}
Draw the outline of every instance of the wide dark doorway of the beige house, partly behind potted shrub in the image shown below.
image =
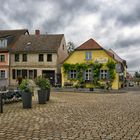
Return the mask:
{"type": "Polygon", "coordinates": [[[55,85],[55,71],[54,70],[42,70],[42,75],[50,80],[52,86],[55,85]]]}

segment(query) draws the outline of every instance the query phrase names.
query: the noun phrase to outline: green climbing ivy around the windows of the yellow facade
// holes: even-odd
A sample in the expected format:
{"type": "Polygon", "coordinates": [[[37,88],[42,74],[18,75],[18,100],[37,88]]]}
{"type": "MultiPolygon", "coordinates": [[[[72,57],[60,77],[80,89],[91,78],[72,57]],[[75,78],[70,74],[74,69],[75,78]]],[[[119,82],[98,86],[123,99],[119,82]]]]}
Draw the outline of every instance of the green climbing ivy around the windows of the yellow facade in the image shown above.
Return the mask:
{"type": "MultiPolygon", "coordinates": [[[[77,78],[76,79],[70,79],[70,80],[78,80],[79,83],[84,82],[83,78],[83,72],[87,69],[92,70],[93,75],[93,84],[98,84],[98,81],[100,80],[100,69],[102,68],[103,64],[100,63],[76,63],[76,64],[69,64],[64,63],[63,69],[64,73],[68,74],[71,70],[77,71],[77,78]]],[[[115,79],[115,63],[113,61],[108,61],[106,64],[109,72],[109,80],[113,82],[115,79]]]]}

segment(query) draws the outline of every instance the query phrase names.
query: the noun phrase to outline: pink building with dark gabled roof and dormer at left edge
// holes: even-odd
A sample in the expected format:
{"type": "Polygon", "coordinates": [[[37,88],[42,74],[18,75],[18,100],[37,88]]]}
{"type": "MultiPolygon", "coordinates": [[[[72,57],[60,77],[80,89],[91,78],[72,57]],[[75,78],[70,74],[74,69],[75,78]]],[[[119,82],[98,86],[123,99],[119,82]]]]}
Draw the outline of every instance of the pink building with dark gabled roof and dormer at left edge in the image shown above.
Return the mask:
{"type": "Polygon", "coordinates": [[[10,80],[10,50],[27,29],[0,30],[0,87],[8,86],[10,80]]]}

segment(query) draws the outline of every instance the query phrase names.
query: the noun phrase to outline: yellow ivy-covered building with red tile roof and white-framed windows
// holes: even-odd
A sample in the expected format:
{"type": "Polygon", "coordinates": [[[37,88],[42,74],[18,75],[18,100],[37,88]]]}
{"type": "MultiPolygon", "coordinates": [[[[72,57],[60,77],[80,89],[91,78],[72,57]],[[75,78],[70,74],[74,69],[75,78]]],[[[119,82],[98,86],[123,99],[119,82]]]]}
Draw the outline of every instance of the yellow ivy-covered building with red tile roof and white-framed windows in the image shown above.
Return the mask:
{"type": "Polygon", "coordinates": [[[89,39],[64,61],[62,86],[108,87],[120,89],[126,77],[126,61],[89,39]]]}

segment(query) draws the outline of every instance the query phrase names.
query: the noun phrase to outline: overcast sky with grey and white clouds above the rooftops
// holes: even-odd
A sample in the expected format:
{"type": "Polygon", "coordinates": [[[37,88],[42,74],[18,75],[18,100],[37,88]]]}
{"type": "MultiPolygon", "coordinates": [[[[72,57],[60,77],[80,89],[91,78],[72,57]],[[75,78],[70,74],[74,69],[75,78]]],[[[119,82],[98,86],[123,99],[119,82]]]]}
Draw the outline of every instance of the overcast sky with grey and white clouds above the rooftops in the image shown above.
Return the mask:
{"type": "Polygon", "coordinates": [[[0,29],[64,33],[79,46],[89,38],[140,70],[139,0],[0,0],[0,29]]]}

